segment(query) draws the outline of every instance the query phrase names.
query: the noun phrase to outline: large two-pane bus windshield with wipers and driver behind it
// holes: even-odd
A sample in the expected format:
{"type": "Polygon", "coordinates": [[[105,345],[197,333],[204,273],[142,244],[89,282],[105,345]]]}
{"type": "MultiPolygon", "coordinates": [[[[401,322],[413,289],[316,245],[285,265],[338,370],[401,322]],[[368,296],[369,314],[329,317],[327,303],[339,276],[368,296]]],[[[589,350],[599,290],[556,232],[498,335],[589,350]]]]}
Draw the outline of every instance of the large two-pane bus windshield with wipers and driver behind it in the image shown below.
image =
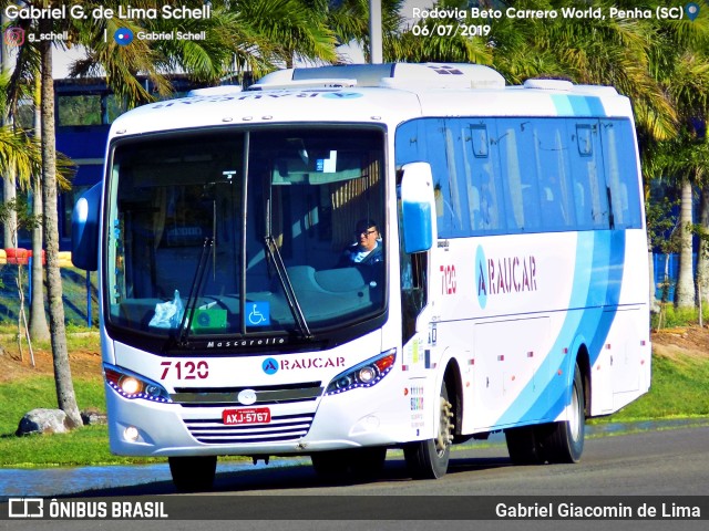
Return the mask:
{"type": "Polygon", "coordinates": [[[114,144],[107,324],[310,337],[384,308],[383,133],[209,131],[114,144]],[[369,240],[369,241],[364,241],[369,240]]]}

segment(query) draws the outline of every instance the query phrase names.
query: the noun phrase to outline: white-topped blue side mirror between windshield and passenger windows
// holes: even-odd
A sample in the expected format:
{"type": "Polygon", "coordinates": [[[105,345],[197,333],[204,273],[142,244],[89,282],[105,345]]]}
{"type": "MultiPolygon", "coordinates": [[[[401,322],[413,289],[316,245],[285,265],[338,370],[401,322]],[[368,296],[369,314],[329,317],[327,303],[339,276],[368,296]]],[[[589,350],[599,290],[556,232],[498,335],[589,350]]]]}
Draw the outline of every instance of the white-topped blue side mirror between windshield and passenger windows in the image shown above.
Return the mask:
{"type": "Polygon", "coordinates": [[[429,163],[404,164],[401,168],[401,215],[403,249],[407,253],[428,251],[435,231],[435,197],[429,163]]]}

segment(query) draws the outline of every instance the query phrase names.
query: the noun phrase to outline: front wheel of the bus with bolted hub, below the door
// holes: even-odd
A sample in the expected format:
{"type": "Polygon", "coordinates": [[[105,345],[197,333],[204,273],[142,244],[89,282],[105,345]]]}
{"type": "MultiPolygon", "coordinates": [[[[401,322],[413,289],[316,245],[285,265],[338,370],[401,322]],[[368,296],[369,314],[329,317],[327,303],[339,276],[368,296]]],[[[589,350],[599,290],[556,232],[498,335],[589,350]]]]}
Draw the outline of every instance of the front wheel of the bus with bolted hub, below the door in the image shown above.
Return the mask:
{"type": "Polygon", "coordinates": [[[445,383],[440,396],[441,419],[434,439],[410,442],[403,447],[403,456],[411,476],[415,479],[439,479],[448,471],[453,442],[453,405],[448,400],[445,383]]]}

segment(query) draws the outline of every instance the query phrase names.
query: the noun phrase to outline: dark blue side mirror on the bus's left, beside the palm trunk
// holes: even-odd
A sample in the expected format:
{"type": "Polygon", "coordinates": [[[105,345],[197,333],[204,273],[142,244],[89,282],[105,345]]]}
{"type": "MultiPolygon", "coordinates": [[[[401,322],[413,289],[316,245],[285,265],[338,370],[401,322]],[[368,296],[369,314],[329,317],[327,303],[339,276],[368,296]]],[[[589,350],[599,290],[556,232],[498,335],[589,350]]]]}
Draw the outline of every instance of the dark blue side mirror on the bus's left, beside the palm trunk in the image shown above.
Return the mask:
{"type": "Polygon", "coordinates": [[[86,190],[71,215],[71,261],[84,271],[99,269],[101,183],[86,190]]]}

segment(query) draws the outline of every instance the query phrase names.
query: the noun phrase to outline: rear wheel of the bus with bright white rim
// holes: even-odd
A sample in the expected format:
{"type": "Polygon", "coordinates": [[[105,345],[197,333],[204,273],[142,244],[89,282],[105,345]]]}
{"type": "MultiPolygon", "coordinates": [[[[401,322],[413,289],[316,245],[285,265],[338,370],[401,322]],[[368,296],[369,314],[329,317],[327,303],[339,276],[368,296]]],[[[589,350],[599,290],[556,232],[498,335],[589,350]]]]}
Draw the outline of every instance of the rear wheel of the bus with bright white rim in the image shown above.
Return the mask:
{"type": "Polygon", "coordinates": [[[572,405],[568,420],[553,423],[545,435],[543,447],[548,462],[578,462],[584,451],[586,428],[584,384],[578,365],[574,369],[572,405]]]}

